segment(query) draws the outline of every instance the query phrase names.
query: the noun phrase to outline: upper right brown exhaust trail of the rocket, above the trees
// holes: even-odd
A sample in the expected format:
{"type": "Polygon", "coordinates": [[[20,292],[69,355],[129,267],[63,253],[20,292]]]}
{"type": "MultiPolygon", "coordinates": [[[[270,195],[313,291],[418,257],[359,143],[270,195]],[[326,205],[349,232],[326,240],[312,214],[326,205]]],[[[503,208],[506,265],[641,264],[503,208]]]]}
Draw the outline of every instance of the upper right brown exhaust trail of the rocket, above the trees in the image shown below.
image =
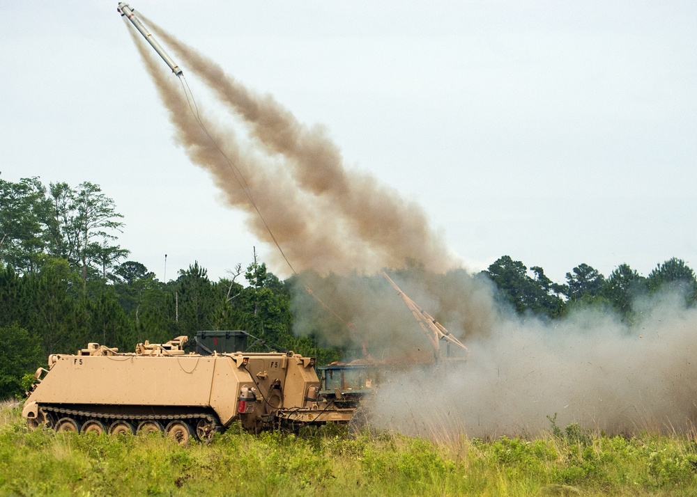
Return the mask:
{"type": "Polygon", "coordinates": [[[146,21],[245,120],[268,152],[286,157],[299,188],[331,199],[352,235],[372,248],[376,260],[370,269],[399,267],[406,260],[416,260],[434,271],[459,267],[461,261],[431,229],[422,208],[371,175],[349,171],[339,148],[323,129],[302,125],[273,97],[254,94],[219,65],[146,21]]]}

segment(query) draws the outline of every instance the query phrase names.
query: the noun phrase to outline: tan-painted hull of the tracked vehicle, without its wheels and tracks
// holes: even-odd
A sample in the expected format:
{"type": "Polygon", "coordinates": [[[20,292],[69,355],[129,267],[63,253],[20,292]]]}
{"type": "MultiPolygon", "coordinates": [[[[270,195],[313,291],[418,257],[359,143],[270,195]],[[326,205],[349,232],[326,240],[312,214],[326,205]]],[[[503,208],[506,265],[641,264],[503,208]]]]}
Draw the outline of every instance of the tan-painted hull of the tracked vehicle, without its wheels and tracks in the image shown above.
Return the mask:
{"type": "Polygon", "coordinates": [[[54,354],[49,371],[37,371],[39,383],[27,398],[22,416],[40,422],[42,407],[72,409],[78,417],[108,411],[141,419],[155,407],[158,413],[175,417],[212,410],[222,426],[240,419],[248,429],[270,423],[262,420],[266,414],[302,422],[314,421],[320,411],[325,413],[323,420],[351,418],[352,410],[339,410],[326,402],[306,406],[307,390],[319,386],[312,358],[292,352],[184,354],[185,341],[178,337],[162,345],[146,342],[130,354],[95,343],[75,355],[54,354]],[[238,396],[245,387],[254,388],[256,402],[240,415],[238,396]]]}

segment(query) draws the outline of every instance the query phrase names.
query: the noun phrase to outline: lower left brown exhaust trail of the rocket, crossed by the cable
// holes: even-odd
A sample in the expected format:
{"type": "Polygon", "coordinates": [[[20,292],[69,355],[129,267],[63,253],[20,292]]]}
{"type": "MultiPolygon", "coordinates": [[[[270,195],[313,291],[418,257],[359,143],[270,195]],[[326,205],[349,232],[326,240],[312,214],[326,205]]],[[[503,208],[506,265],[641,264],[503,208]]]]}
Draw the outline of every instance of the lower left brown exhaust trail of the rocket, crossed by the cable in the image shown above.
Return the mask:
{"type": "MultiPolygon", "coordinates": [[[[284,252],[289,260],[293,261],[296,269],[348,272],[355,267],[361,267],[362,261],[371,257],[369,248],[358,240],[348,239],[342,226],[336,226],[331,234],[325,232],[323,227],[332,226],[334,223],[331,205],[323,201],[316,202],[305,191],[298,190],[289,178],[284,164],[279,163],[277,159],[260,155],[253,148],[243,148],[236,141],[232,129],[215,125],[202,113],[201,123],[212,137],[212,140],[209,139],[204,128],[192,117],[181,88],[158,70],[154,54],[146,49],[135,30],[129,29],[129,32],[162,102],[169,111],[169,119],[176,132],[176,142],[185,148],[194,164],[210,171],[229,205],[250,214],[247,217],[247,225],[256,237],[273,244],[266,226],[250,205],[245,187],[235,178],[233,168],[224,159],[224,155],[236,164],[246,179],[249,193],[259,210],[266,214],[268,228],[284,247],[284,252]],[[224,155],[215,143],[221,144],[224,155]]],[[[277,264],[285,264],[275,253],[272,257],[277,264]]]]}

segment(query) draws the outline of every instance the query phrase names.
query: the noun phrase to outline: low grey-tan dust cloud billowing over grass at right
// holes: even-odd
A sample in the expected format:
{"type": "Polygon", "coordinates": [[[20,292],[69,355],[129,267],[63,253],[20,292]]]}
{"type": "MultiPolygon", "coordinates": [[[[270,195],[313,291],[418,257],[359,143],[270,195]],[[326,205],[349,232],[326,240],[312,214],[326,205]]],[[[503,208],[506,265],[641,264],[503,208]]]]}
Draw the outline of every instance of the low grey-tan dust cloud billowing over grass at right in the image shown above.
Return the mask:
{"type": "Polygon", "coordinates": [[[500,319],[467,342],[463,367],[392,377],[372,423],[435,438],[537,434],[551,420],[608,434],[694,432],[697,310],[675,294],[636,309],[633,326],[597,310],[553,324],[500,319]]]}

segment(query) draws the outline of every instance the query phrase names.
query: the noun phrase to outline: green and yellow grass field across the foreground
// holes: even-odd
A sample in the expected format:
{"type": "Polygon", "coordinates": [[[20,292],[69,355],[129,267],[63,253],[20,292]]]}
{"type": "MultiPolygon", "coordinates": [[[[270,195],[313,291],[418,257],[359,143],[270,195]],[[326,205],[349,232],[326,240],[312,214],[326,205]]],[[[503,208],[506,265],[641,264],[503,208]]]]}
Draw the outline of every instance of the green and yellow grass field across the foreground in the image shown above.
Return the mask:
{"type": "Polygon", "coordinates": [[[535,439],[328,426],[253,436],[232,427],[181,447],[151,434],[29,431],[0,408],[0,495],[17,496],[697,496],[694,436],[601,436],[578,425],[535,439]]]}

